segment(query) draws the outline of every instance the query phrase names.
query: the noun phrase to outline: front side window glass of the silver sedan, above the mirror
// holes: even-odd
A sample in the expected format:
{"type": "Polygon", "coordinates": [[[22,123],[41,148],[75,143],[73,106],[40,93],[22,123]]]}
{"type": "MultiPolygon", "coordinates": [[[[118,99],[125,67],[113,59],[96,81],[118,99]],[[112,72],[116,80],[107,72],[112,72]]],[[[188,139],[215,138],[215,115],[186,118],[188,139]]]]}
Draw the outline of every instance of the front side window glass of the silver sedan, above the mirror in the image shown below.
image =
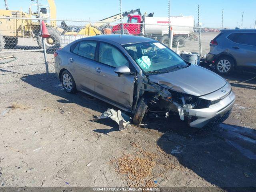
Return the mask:
{"type": "Polygon", "coordinates": [[[99,62],[115,68],[122,65],[129,67],[128,60],[117,48],[102,42],[99,49],[99,62]]]}

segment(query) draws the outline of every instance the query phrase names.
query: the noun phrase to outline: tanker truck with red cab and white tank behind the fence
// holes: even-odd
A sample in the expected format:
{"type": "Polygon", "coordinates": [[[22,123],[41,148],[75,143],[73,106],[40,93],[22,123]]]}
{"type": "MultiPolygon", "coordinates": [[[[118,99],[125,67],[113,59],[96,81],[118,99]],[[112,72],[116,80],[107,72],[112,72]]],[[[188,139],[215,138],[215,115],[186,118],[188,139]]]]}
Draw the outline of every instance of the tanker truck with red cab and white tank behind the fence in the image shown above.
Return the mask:
{"type": "MultiPolygon", "coordinates": [[[[168,17],[153,17],[154,13],[142,16],[141,14],[128,15],[127,23],[124,24],[124,34],[145,36],[160,41],[168,46],[169,44],[169,19],[168,17]]],[[[193,33],[193,16],[172,16],[170,24],[173,30],[173,46],[183,47],[186,44],[186,38],[193,33]],[[172,26],[173,25],[173,26],[172,26]],[[184,27],[186,26],[186,27],[184,27]]],[[[122,24],[113,26],[112,33],[120,33],[122,24]]]]}

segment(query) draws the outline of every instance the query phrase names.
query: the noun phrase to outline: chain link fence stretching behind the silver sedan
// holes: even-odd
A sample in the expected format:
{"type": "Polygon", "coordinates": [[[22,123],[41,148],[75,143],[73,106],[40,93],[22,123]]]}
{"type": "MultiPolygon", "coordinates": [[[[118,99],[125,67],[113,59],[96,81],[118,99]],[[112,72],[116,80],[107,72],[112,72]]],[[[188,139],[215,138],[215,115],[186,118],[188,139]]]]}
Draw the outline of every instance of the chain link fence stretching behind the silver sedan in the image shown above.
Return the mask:
{"type": "MultiPolygon", "coordinates": [[[[79,20],[44,21],[50,34],[49,38],[44,39],[50,76],[54,75],[54,51],[80,38],[101,34],[144,36],[158,40],[174,51],[198,52],[204,56],[210,50],[210,40],[220,33],[219,29],[193,26],[172,25],[169,28],[166,22],[144,24],[79,20]],[[172,32],[169,33],[169,29],[172,32]]],[[[39,19],[0,17],[0,22],[0,83],[14,82],[24,76],[44,75],[46,78],[39,19]]]]}

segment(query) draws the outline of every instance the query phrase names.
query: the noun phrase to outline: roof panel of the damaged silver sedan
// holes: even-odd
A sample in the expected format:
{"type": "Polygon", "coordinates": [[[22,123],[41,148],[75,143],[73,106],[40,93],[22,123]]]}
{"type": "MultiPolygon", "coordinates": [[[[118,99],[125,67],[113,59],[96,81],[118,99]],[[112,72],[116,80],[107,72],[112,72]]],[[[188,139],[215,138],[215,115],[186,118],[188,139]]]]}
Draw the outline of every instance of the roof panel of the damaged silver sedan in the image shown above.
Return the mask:
{"type": "Polygon", "coordinates": [[[84,38],[84,40],[103,40],[106,42],[112,41],[120,45],[154,41],[153,39],[145,38],[142,36],[116,35],[116,34],[91,36],[91,37],[84,38]]]}

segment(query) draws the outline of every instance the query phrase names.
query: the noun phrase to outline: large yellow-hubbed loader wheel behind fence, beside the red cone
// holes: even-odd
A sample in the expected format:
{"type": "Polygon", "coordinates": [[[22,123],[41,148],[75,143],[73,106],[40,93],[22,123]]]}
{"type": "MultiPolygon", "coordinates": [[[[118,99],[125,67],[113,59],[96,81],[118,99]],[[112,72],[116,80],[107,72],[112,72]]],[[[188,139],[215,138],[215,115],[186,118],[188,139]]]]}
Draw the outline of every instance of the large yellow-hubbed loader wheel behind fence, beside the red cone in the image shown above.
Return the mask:
{"type": "MultiPolygon", "coordinates": [[[[60,32],[54,27],[46,27],[50,37],[44,39],[44,44],[46,51],[49,53],[54,53],[57,48],[60,47],[60,32]]],[[[37,34],[37,44],[40,48],[43,48],[41,34],[37,34]]]]}

